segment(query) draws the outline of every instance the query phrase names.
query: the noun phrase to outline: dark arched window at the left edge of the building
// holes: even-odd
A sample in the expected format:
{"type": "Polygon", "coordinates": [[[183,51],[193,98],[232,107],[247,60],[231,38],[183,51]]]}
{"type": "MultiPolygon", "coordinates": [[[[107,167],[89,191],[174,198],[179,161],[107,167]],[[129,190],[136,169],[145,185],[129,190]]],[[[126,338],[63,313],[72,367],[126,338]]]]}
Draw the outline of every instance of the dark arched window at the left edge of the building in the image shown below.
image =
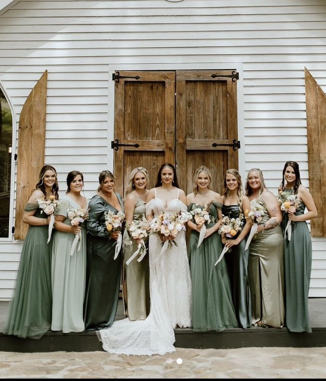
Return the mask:
{"type": "Polygon", "coordinates": [[[9,237],[13,118],[0,88],[0,238],[9,237]]]}

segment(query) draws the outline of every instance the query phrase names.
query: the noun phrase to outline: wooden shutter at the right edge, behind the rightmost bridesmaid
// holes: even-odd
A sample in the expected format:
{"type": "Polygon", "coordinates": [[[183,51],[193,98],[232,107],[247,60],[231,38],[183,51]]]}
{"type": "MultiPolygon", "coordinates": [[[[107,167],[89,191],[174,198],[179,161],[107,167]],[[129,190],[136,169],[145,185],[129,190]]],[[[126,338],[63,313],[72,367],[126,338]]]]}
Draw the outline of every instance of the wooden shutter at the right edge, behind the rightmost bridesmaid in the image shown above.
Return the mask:
{"type": "Polygon", "coordinates": [[[311,220],[311,236],[326,237],[326,95],[305,68],[309,190],[318,217],[311,220]]]}

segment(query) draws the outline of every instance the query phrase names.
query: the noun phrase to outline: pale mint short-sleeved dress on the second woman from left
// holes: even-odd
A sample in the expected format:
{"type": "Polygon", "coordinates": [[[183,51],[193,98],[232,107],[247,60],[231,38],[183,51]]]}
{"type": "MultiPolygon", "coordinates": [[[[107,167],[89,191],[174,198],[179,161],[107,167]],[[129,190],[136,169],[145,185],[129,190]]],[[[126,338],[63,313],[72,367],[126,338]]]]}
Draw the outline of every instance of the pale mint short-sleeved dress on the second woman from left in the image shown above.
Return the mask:
{"type": "MultiPolygon", "coordinates": [[[[81,209],[68,195],[61,198],[55,211],[65,216],[63,223],[71,226],[68,206],[81,209]]],[[[86,276],[86,226],[81,224],[80,250],[70,255],[75,235],[57,231],[52,249],[52,331],[84,331],[83,302],[86,276]]]]}

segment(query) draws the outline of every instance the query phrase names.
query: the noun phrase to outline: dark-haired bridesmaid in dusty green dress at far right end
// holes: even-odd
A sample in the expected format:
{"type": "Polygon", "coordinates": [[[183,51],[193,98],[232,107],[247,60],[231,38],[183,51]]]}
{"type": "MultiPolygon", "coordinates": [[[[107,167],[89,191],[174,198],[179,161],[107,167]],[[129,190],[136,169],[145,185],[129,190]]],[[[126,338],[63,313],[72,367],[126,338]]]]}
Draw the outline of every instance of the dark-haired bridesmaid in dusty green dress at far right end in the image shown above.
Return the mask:
{"type": "Polygon", "coordinates": [[[296,194],[299,208],[283,212],[282,227],[292,221],[292,237],[284,240],[286,326],[291,332],[311,332],[308,293],[311,274],[311,237],[307,220],[317,217],[317,208],[311,193],[301,184],[299,165],[287,161],[279,189],[283,196],[296,194]],[[305,208],[308,212],[305,213],[305,208]]]}

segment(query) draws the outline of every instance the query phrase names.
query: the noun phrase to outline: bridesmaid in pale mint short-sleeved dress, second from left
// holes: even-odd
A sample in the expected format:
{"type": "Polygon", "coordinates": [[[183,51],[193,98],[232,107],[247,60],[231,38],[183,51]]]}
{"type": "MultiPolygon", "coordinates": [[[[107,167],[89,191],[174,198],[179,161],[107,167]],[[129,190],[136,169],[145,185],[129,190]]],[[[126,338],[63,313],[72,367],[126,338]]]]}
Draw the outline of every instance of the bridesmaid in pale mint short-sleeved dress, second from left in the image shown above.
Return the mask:
{"type": "Polygon", "coordinates": [[[80,194],[84,177],[79,171],[67,175],[68,190],[55,211],[55,228],[52,250],[52,331],[84,331],[83,301],[86,272],[85,222],[72,226],[68,209],[87,210],[88,199],[80,194]],[[76,234],[80,234],[80,250],[70,255],[76,234]]]}

